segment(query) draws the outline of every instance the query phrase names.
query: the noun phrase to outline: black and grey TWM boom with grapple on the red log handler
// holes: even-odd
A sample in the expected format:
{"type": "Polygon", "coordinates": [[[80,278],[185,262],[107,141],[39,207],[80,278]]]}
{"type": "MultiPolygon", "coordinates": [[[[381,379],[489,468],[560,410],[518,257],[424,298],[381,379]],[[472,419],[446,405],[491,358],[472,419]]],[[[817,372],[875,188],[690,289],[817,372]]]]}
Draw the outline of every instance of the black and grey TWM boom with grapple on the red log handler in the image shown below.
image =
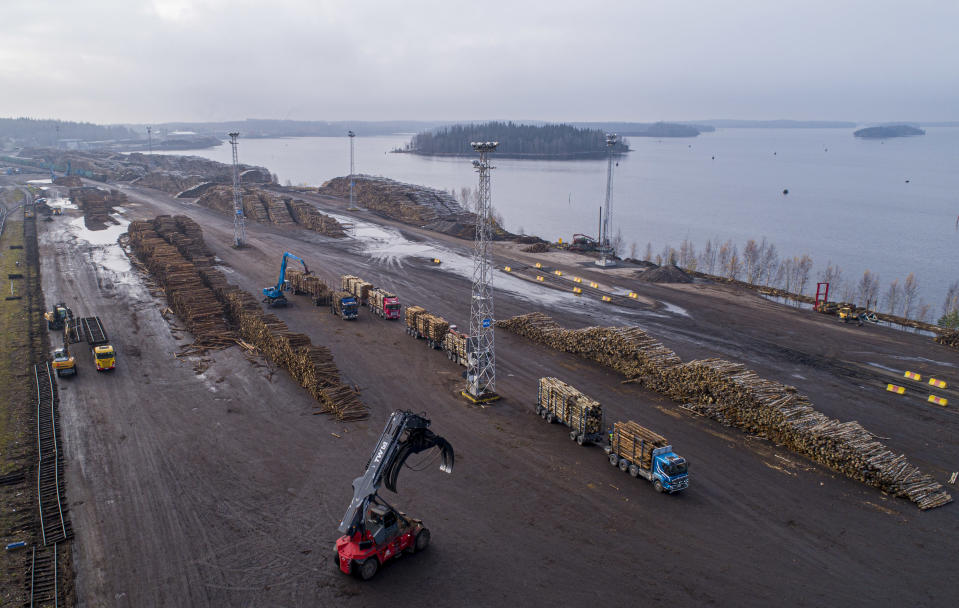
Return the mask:
{"type": "Polygon", "coordinates": [[[406,459],[413,454],[439,448],[440,470],[453,472],[453,446],[429,429],[430,420],[406,410],[390,415],[362,477],[353,480],[353,500],[340,521],[340,532],[352,535],[362,528],[363,516],[382,484],[396,492],[396,480],[406,459]]]}

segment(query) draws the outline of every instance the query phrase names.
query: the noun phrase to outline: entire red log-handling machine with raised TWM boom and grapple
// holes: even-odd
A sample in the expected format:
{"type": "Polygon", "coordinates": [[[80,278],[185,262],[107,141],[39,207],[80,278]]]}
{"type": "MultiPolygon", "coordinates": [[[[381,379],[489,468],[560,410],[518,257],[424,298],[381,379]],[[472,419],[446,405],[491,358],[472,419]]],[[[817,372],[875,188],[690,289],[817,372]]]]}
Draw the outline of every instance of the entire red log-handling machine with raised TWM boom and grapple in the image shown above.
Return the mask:
{"type": "Polygon", "coordinates": [[[396,492],[396,478],[406,459],[434,447],[442,455],[440,470],[453,472],[453,446],[429,426],[428,418],[409,410],[390,415],[366,472],[353,480],[353,500],[339,527],[344,536],[336,541],[336,566],[341,572],[369,580],[387,560],[429,546],[430,531],[423,522],[397,511],[377,494],[383,483],[396,492]]]}

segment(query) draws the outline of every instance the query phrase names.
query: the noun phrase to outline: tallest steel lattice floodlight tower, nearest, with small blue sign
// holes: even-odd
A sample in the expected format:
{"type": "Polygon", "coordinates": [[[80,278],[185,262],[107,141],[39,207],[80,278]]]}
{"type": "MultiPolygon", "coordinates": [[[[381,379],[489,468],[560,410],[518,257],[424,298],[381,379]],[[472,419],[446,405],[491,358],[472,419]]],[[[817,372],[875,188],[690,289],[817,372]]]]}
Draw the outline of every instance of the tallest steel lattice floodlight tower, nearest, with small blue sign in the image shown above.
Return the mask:
{"type": "Polygon", "coordinates": [[[479,193],[476,209],[476,236],[473,240],[473,293],[470,301],[470,335],[466,389],[462,395],[473,403],[499,399],[496,394],[496,353],[493,348],[493,261],[490,245],[493,241],[492,205],[490,203],[489,153],[496,151],[499,142],[470,142],[479,152],[473,168],[479,173],[479,193]]]}

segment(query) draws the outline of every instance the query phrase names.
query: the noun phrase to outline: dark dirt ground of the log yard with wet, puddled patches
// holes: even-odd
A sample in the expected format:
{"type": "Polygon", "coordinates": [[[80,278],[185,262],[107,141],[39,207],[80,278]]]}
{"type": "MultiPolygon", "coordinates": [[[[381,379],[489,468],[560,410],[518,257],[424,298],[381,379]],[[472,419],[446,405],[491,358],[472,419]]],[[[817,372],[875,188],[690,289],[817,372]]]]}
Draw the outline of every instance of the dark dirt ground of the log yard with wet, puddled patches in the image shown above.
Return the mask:
{"type": "MultiPolygon", "coordinates": [[[[251,224],[251,247],[234,250],[228,217],[122,189],[126,220],[192,216],[228,278],[251,292],[274,283],[280,256],[292,251],[324,278],[356,274],[404,304],[468,321],[468,243],[361,212],[356,238],[251,224]],[[438,267],[427,261],[434,255],[438,267]]],[[[337,202],[316,202],[342,213],[337,202]]],[[[462,368],[400,323],[365,309],[343,322],[292,297],[276,314],[329,346],[371,409],[353,424],[311,415],[313,402],[284,372],[238,348],[174,357],[189,336],[161,315],[165,303],[118,250],[97,244],[109,239],[83,231],[77,217],[42,224],[44,293],[99,315],[118,350],[115,372],[97,374],[78,348],[80,375],[61,382],[83,606],[944,606],[959,592],[955,505],[921,513],[505,332],[496,336],[505,399],[478,408],[457,396],[462,368]],[[610,420],[633,418],[670,438],[692,463],[690,489],[657,494],[533,415],[544,375],[600,400],[610,420]],[[336,526],[395,408],[426,411],[455,447],[456,469],[400,476],[388,500],[423,518],[433,544],[360,583],[333,569],[336,526]]],[[[570,327],[640,324],[683,359],[720,356],[798,386],[824,413],[860,420],[941,481],[959,468],[955,409],[883,390],[888,369],[959,381],[955,351],[721,286],[629,286],[652,304],[608,308],[498,275],[497,316],[543,310],[570,327]]]]}

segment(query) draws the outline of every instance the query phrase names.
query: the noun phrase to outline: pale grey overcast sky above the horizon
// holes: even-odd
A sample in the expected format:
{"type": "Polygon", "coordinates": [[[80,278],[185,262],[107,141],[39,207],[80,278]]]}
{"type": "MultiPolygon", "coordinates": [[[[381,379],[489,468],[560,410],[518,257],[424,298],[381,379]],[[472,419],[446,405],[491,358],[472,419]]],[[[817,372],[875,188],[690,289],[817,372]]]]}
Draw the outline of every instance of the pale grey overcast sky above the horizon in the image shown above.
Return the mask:
{"type": "Polygon", "coordinates": [[[959,120],[955,0],[0,0],[0,116],[959,120]]]}

